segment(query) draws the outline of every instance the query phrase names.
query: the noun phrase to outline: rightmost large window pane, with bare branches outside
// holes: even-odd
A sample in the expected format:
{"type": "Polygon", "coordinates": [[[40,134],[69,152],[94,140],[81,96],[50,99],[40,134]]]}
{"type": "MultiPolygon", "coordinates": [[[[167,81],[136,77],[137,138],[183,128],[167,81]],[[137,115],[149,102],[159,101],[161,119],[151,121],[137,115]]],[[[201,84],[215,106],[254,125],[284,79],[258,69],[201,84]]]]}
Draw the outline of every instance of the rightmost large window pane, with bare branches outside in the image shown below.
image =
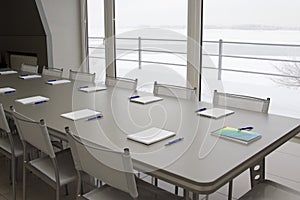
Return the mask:
{"type": "Polygon", "coordinates": [[[214,88],[270,97],[270,112],[299,117],[297,0],[204,0],[203,99],[214,88]]]}

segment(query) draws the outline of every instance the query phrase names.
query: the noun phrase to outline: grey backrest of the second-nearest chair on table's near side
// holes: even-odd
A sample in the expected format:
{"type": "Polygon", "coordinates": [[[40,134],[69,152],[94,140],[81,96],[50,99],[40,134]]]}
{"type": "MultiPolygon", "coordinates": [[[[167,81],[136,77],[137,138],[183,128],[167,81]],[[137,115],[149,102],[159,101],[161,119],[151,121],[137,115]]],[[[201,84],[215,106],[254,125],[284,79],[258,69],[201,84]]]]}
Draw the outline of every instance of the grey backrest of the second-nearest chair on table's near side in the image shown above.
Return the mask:
{"type": "Polygon", "coordinates": [[[53,146],[44,120],[36,122],[16,112],[13,107],[11,107],[11,111],[21,140],[31,144],[51,158],[55,158],[53,146]]]}

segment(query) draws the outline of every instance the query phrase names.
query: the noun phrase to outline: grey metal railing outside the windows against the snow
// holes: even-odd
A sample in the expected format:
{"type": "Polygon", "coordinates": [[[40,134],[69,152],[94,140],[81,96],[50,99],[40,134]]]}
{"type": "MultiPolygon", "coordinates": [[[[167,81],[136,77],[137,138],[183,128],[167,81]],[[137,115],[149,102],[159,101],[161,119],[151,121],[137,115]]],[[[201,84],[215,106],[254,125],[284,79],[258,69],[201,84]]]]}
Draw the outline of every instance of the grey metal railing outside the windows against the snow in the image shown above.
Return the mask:
{"type": "MultiPolygon", "coordinates": [[[[96,50],[105,50],[104,48],[104,38],[103,37],[89,37],[89,41],[92,40],[100,40],[102,41],[102,44],[99,46],[90,46],[89,49],[96,49],[96,50]]],[[[128,62],[138,62],[139,69],[142,68],[143,64],[158,64],[158,65],[170,65],[170,66],[183,66],[186,67],[186,64],[181,63],[174,63],[174,62],[157,62],[157,61],[150,61],[150,60],[143,60],[143,52],[147,53],[170,53],[170,54],[179,54],[179,55],[186,55],[186,52],[182,51],[170,51],[170,50],[156,50],[156,49],[147,49],[143,48],[143,42],[145,41],[155,41],[155,42],[178,42],[186,44],[187,40],[180,40],[180,39],[154,39],[154,38],[116,38],[116,40],[128,40],[128,41],[137,41],[136,48],[116,48],[116,51],[129,51],[129,52],[135,52],[138,53],[137,59],[124,59],[124,58],[117,58],[117,61],[128,61],[128,62]]],[[[220,39],[219,41],[203,41],[203,46],[205,44],[213,44],[218,46],[217,50],[218,53],[202,53],[202,56],[211,56],[216,57],[218,60],[217,68],[213,66],[202,66],[206,69],[213,69],[218,70],[218,79],[222,79],[222,72],[228,71],[228,72],[239,72],[239,73],[248,73],[248,74],[257,74],[257,75],[266,75],[266,76],[277,76],[277,77],[285,77],[285,78],[299,78],[300,75],[289,75],[289,74],[282,74],[282,73],[268,73],[268,72],[260,72],[260,71],[249,71],[249,70],[242,70],[241,69],[234,69],[234,68],[224,68],[223,59],[224,58],[230,58],[230,59],[246,59],[246,60],[261,60],[261,61],[272,61],[272,62],[285,62],[285,63],[299,63],[300,67],[300,60],[294,60],[294,59],[277,59],[277,58],[270,58],[270,57],[257,57],[257,56],[245,56],[245,55],[239,55],[239,54],[225,54],[224,53],[224,45],[235,45],[235,46],[265,46],[265,47],[272,47],[272,48],[278,48],[278,47],[284,47],[284,48],[299,48],[300,45],[295,44],[274,44],[274,43],[253,43],[253,42],[230,42],[230,41],[223,41],[220,39]]],[[[99,58],[99,59],[105,59],[101,56],[90,56],[91,58],[99,58]]],[[[300,54],[299,54],[300,57],[300,54]]]]}

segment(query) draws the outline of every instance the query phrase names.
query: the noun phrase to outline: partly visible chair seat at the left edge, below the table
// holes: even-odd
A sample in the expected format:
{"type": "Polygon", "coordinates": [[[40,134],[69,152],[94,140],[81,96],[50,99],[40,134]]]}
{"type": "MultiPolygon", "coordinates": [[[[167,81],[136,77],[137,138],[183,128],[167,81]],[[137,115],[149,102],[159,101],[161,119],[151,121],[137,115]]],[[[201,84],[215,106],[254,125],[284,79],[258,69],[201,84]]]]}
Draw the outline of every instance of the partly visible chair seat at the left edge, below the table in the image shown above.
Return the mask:
{"type": "MultiPolygon", "coordinates": [[[[23,146],[18,135],[13,136],[15,157],[23,155],[23,146]]],[[[11,146],[8,137],[0,137],[0,149],[11,155],[11,146]]]]}

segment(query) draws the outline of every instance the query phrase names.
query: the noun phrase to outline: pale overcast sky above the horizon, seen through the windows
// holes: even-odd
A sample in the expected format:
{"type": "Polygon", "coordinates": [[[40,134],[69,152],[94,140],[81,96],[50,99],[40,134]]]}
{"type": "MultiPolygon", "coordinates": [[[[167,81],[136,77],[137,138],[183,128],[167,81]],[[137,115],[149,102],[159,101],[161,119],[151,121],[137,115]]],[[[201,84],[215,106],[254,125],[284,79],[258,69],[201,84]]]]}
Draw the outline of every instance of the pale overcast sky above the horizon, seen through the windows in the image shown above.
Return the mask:
{"type": "MultiPolygon", "coordinates": [[[[103,0],[88,4],[90,25],[103,27],[103,0]]],[[[300,0],[204,0],[204,25],[300,27],[299,10],[300,0]]],[[[186,26],[186,21],[187,0],[116,0],[117,28],[186,26]]]]}

